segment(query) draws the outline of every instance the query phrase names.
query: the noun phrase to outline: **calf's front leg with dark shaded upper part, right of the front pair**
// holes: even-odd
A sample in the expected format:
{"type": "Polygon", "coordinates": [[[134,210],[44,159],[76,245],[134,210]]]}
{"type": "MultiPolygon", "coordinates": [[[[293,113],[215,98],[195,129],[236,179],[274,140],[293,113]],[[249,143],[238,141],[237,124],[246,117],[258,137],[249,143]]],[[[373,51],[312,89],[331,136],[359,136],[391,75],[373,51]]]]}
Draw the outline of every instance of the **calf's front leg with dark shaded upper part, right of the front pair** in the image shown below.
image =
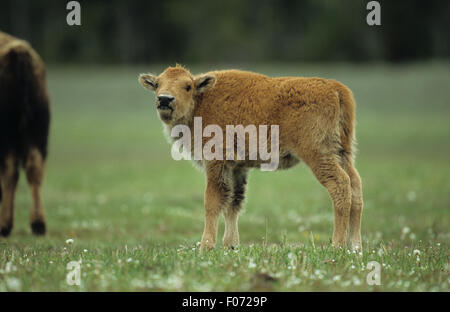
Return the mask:
{"type": "Polygon", "coordinates": [[[235,168],[232,176],[233,195],[231,204],[224,208],[225,233],[223,245],[225,247],[239,246],[238,216],[245,198],[245,185],[247,184],[247,169],[235,168]]]}

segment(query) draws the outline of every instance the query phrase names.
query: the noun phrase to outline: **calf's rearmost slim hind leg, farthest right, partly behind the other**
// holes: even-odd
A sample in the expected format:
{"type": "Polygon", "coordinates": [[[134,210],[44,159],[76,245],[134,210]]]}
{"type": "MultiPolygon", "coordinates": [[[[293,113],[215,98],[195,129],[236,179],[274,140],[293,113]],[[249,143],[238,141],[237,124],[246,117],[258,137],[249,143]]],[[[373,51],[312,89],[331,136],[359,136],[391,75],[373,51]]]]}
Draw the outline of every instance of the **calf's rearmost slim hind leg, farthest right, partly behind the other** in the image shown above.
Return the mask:
{"type": "Polygon", "coordinates": [[[343,168],[350,177],[352,187],[352,205],[350,209],[350,244],[352,249],[361,250],[361,215],[363,210],[363,196],[361,178],[350,160],[344,160],[343,168]]]}

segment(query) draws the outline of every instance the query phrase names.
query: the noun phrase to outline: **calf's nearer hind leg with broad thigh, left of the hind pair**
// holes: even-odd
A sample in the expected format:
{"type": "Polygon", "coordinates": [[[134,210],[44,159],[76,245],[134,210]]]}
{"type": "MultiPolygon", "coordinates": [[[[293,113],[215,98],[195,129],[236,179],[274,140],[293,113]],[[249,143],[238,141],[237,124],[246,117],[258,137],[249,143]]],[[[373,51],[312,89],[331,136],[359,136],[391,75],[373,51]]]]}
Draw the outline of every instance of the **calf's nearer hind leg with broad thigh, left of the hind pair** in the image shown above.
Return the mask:
{"type": "Polygon", "coordinates": [[[333,201],[333,245],[345,245],[350,220],[352,191],[350,178],[338,164],[334,155],[316,154],[305,160],[317,180],[325,186],[333,201]]]}

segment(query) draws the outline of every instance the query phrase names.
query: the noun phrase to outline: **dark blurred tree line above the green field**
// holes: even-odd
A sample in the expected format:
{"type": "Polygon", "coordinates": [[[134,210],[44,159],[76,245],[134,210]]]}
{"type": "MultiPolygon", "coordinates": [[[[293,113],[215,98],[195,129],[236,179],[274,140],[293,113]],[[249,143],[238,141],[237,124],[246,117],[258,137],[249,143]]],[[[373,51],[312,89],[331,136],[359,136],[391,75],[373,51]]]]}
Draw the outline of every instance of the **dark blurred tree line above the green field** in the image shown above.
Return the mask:
{"type": "Polygon", "coordinates": [[[411,61],[450,56],[450,1],[1,0],[0,30],[30,41],[47,62],[411,61]]]}

